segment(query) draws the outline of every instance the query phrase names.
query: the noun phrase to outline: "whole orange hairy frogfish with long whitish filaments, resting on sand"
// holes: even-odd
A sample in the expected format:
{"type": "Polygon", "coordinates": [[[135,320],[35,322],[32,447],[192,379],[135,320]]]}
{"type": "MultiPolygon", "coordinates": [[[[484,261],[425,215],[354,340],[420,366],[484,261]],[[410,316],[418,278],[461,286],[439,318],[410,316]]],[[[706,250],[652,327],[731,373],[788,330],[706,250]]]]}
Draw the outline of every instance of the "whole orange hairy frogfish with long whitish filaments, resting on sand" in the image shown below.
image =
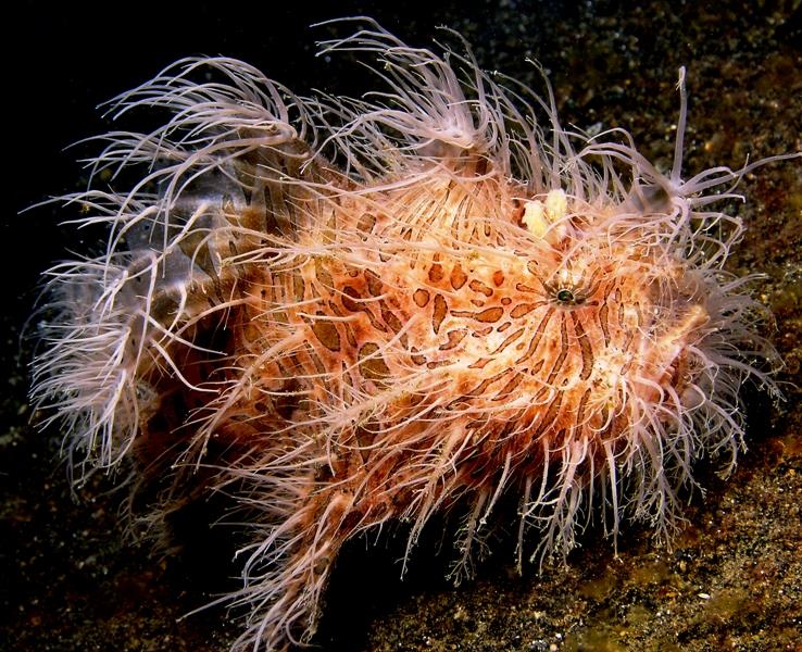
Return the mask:
{"type": "Polygon", "coordinates": [[[34,403],[77,478],[156,487],[151,523],[230,499],[235,649],[309,642],[343,542],[390,524],[405,566],[454,514],[458,580],[510,500],[518,565],[590,521],[668,537],[694,461],[736,463],[739,386],[776,391],[767,311],[724,271],[741,220],[714,206],[799,152],[684,178],[684,70],[661,171],[462,41],[351,24],[319,51],[380,92],[184,59],[110,104],[163,126],[100,137],[89,189],[60,198],[106,239],[47,273],[34,403]]]}

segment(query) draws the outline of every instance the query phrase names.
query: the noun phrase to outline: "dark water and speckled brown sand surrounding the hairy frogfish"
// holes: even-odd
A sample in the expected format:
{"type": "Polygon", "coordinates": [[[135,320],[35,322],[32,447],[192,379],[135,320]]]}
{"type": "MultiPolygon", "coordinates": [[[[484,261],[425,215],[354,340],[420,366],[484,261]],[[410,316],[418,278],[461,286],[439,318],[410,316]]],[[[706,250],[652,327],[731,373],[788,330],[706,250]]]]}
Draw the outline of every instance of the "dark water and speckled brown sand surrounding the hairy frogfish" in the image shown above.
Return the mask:
{"type": "MultiPolygon", "coordinates": [[[[452,26],[483,66],[534,86],[525,58],[537,58],[550,72],[564,124],[624,126],[659,164],[671,156],[680,65],[689,68],[691,97],[688,171],[802,149],[798,1],[74,4],[22,2],[4,16],[0,188],[11,200],[0,220],[3,650],[211,651],[237,632],[222,612],[176,623],[230,573],[204,556],[205,541],[186,559],[154,560],[127,546],[113,482],[98,477],[74,501],[58,463],[60,435],[28,426],[30,347],[20,331],[33,288],[65,249],[93,242],[59,226],[63,214],[52,205],[17,213],[83,188],[76,154],[63,149],[110,128],[96,110],[100,102],[175,59],[202,53],[245,59],[299,93],[359,95],[374,80],[344,59],[315,59],[314,41],[329,33],[309,25],[369,14],[415,46],[429,46],[437,25],[452,26]]],[[[751,203],[732,210],[751,230],[732,269],[767,275],[760,297],[777,317],[781,380],[800,385],[800,166],[764,168],[741,189],[751,203]]],[[[631,528],[614,559],[610,541],[590,532],[568,567],[517,578],[510,537],[501,532],[478,580],[453,590],[441,579],[448,559],[433,552],[437,536],[422,546],[402,585],[392,546],[368,554],[358,542],[335,574],[322,648],[799,650],[802,419],[799,390],[786,387],[785,406],[773,409],[760,396],[751,401],[751,450],[729,484],[702,464],[710,491],[691,500],[674,549],[655,548],[631,528]]]]}

